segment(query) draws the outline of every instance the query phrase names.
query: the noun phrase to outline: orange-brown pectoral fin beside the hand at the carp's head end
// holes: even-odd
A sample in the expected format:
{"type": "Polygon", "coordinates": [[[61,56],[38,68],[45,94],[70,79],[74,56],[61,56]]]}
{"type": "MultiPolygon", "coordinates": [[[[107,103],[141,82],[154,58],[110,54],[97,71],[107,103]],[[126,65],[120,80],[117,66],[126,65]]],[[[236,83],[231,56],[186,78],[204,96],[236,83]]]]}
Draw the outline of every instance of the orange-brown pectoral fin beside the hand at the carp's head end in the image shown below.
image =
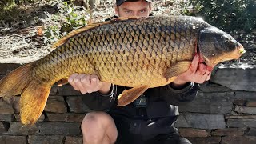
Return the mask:
{"type": "Polygon", "coordinates": [[[178,76],[178,74],[184,73],[186,70],[189,69],[190,64],[191,64],[191,61],[182,61],[182,62],[176,63],[174,66],[170,66],[166,70],[166,74],[164,74],[166,81],[169,78],[172,78],[172,77],[178,76]]]}

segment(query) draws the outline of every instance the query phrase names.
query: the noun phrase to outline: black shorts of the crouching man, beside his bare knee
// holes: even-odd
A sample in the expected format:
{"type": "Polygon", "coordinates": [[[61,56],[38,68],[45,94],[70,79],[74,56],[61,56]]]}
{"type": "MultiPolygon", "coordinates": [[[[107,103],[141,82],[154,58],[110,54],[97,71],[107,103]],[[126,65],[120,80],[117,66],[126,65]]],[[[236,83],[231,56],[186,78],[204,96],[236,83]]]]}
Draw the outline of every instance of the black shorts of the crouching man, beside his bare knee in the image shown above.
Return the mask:
{"type": "MultiPolygon", "coordinates": [[[[110,114],[118,129],[116,144],[191,144],[174,126],[153,126],[149,121],[131,120],[110,114]]],[[[160,122],[162,123],[162,122],[160,122]]]]}

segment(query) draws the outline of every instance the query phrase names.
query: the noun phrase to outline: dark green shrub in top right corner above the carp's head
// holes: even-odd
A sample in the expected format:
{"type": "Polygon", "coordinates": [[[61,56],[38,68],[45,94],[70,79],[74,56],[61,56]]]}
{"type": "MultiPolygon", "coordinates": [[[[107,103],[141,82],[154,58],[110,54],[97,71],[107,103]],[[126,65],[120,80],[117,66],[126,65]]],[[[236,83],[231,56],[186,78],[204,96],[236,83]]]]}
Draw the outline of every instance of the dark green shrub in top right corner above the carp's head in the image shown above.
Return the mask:
{"type": "Polygon", "coordinates": [[[182,6],[182,14],[202,17],[223,30],[256,30],[255,0],[190,0],[182,6]]]}

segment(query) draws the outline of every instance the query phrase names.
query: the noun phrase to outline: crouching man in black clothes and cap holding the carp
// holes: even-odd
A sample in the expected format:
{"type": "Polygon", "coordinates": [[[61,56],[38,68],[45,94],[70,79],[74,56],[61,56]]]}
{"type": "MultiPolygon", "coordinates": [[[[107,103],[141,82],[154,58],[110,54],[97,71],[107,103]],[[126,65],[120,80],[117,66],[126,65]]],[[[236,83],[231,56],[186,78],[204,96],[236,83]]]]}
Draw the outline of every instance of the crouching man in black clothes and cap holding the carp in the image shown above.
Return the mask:
{"type": "MultiPolygon", "coordinates": [[[[117,0],[115,13],[119,17],[147,17],[151,1],[117,0]]],[[[185,73],[178,75],[167,86],[146,90],[137,100],[127,106],[117,106],[117,95],[127,89],[100,82],[96,75],[72,74],[71,86],[86,94],[84,102],[94,112],[86,114],[82,121],[83,142],[86,144],[116,143],[182,143],[174,123],[178,107],[190,102],[198,92],[198,84],[210,79],[210,70],[199,62],[198,55],[185,73]],[[103,112],[105,111],[105,112],[103,112]]]]}

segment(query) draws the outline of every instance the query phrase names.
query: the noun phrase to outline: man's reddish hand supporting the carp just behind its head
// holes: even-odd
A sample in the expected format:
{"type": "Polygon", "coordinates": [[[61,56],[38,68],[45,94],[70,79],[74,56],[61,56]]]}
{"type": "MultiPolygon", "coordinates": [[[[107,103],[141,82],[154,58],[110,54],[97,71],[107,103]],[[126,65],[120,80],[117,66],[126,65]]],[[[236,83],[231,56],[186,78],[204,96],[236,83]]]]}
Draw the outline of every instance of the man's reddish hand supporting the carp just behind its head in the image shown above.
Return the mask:
{"type": "Polygon", "coordinates": [[[200,62],[200,58],[197,54],[194,56],[189,70],[186,70],[186,72],[178,75],[172,85],[178,87],[186,84],[186,82],[203,83],[210,79],[211,71],[212,68],[200,62]]]}

